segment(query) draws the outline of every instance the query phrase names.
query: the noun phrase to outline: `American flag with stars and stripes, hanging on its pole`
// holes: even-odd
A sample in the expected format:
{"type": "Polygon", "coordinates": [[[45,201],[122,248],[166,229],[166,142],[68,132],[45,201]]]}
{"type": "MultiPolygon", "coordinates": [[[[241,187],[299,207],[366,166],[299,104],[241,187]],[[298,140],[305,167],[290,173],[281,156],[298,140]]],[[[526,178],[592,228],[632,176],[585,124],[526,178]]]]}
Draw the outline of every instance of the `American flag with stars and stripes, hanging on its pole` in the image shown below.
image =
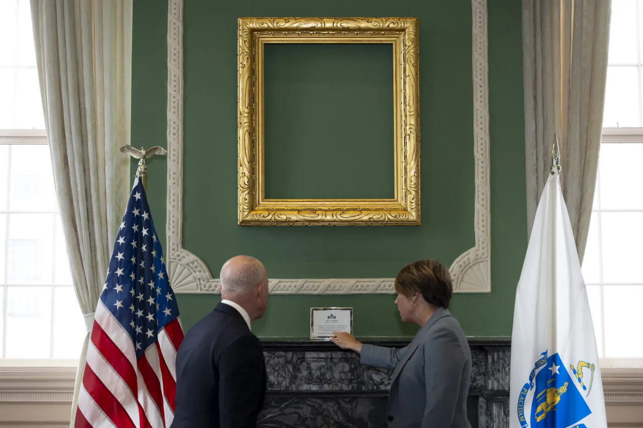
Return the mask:
{"type": "Polygon", "coordinates": [[[96,307],[75,427],[169,427],[182,340],[161,243],[137,178],[96,307]]]}

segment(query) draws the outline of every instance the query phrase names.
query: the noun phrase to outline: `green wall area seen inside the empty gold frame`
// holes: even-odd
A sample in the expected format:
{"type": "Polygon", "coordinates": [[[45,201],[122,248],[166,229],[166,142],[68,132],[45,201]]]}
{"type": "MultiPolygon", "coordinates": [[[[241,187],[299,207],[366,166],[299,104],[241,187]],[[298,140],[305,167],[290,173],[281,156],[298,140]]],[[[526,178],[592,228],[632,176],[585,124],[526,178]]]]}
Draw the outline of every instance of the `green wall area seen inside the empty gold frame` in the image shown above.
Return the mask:
{"type": "Polygon", "coordinates": [[[266,44],[266,198],[394,198],[392,44],[266,44]]]}

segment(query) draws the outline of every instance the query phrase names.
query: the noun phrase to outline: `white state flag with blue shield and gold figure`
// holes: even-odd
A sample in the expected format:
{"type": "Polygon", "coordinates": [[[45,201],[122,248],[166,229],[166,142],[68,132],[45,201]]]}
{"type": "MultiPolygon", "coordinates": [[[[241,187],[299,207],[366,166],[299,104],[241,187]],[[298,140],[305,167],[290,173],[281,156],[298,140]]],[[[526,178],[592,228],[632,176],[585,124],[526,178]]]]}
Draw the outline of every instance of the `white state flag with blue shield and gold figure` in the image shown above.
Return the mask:
{"type": "Polygon", "coordinates": [[[536,210],[511,335],[509,427],[606,428],[587,291],[558,172],[536,210]]]}

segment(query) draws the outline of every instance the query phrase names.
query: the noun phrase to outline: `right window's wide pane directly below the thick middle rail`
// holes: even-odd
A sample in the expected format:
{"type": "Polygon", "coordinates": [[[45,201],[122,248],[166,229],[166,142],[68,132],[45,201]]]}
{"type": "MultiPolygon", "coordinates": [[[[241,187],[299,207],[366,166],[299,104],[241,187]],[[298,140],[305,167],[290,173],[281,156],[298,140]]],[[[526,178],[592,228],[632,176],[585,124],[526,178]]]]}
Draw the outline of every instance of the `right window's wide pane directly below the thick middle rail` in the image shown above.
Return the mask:
{"type": "Polygon", "coordinates": [[[602,144],[601,209],[643,208],[643,143],[602,144]]]}

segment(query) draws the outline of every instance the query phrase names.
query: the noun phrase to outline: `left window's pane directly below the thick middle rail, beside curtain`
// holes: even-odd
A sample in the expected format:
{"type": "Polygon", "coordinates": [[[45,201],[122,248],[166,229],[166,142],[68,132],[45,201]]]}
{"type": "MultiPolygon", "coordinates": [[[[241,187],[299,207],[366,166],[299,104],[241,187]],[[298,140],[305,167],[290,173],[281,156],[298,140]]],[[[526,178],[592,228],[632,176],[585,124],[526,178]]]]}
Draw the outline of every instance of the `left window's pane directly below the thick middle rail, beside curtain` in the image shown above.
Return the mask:
{"type": "Polygon", "coordinates": [[[13,145],[11,150],[11,210],[57,211],[49,146],[13,145]]]}

